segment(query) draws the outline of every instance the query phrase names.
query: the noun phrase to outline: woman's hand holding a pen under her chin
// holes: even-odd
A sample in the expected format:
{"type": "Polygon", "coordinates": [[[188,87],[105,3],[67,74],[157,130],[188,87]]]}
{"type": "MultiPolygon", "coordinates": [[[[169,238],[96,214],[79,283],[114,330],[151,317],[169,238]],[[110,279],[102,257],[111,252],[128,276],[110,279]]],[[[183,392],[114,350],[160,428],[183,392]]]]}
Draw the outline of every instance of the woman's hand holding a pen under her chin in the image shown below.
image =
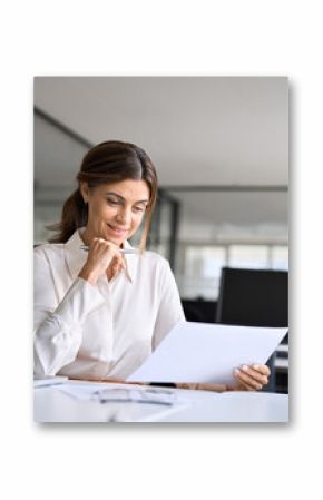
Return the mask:
{"type": "Polygon", "coordinates": [[[107,272],[114,261],[114,266],[124,267],[124,258],[119,247],[104,238],[94,238],[89,246],[88,258],[79,273],[79,277],[95,285],[98,278],[107,272]]]}

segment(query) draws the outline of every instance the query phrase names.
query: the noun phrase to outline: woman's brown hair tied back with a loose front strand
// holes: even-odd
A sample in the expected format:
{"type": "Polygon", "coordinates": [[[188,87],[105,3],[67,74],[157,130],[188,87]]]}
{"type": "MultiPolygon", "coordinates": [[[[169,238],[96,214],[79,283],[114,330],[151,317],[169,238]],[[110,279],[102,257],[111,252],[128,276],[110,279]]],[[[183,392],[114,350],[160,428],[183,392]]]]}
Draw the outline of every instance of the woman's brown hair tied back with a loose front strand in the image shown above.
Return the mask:
{"type": "Polygon", "coordinates": [[[131,143],[107,140],[92,147],[84,157],[77,174],[78,188],[67,198],[62,207],[61,220],[49,226],[58,234],[50,243],[66,243],[75,231],[86,226],[88,207],[80,193],[80,182],[96,187],[100,184],[118,183],[126,179],[145,180],[150,190],[146,210],[145,226],[140,239],[140,249],[145,248],[151,215],[157,198],[157,174],[155,166],[144,149],[131,143]]]}

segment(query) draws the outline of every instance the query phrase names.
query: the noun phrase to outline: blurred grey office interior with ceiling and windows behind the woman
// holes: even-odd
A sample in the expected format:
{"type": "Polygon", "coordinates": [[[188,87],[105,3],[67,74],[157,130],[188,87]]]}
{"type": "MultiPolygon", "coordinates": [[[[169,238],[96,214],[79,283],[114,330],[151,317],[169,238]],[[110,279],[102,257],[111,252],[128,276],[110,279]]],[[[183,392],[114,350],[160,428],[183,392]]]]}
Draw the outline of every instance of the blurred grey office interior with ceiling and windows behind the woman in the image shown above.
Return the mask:
{"type": "MultiPolygon", "coordinates": [[[[85,153],[107,139],[156,164],[148,247],[169,259],[188,320],[216,321],[223,268],[286,273],[286,78],[36,78],[35,244],[60,218],[85,153]]],[[[286,392],[286,342],[276,366],[286,392]]]]}

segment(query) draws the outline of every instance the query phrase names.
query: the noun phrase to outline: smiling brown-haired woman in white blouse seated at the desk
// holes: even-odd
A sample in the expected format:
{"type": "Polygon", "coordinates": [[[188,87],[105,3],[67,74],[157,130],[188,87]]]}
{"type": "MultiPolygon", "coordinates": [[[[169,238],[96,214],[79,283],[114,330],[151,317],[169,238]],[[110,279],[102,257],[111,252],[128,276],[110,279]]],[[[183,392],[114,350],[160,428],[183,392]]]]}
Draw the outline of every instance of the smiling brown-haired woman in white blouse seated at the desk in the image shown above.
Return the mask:
{"type": "MultiPolygon", "coordinates": [[[[156,170],[141,148],[106,141],[88,151],[77,179],[59,233],[35,249],[35,372],[125,380],[185,320],[168,262],[143,252],[156,170]],[[139,252],[129,253],[143,219],[139,252]]],[[[267,366],[245,366],[236,389],[258,390],[268,374],[267,366]]]]}

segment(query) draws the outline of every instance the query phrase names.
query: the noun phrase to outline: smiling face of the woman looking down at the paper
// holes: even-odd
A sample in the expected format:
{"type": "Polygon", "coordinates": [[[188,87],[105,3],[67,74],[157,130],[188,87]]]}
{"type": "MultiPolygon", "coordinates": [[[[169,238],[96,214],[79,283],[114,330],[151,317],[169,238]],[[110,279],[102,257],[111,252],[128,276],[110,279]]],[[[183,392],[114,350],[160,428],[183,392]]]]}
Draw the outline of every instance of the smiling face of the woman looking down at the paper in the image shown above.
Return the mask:
{"type": "Polygon", "coordinates": [[[126,179],[88,188],[81,183],[81,194],[88,203],[88,239],[104,237],[121,245],[138,229],[147,204],[149,188],[145,180],[126,179]]]}

